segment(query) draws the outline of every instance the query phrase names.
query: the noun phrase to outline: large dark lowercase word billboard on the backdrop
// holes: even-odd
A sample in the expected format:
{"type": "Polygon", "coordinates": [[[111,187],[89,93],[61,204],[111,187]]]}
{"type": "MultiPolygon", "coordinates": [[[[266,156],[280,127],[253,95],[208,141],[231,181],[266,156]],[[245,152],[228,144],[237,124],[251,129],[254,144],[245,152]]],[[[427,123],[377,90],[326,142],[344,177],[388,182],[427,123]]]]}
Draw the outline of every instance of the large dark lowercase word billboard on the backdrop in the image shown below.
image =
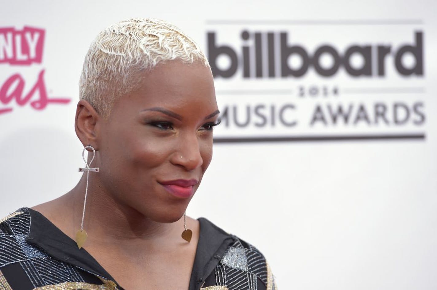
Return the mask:
{"type": "Polygon", "coordinates": [[[219,44],[216,32],[208,32],[208,59],[212,73],[215,77],[231,78],[242,67],[243,78],[274,78],[274,77],[301,77],[310,67],[313,67],[319,76],[333,76],[340,67],[343,67],[348,75],[359,76],[385,76],[385,59],[388,55],[394,56],[394,67],[402,76],[423,76],[423,32],[415,32],[412,44],[401,45],[397,50],[391,45],[350,45],[340,51],[333,45],[320,45],[314,52],[309,52],[302,45],[296,45],[291,41],[288,32],[241,32],[241,48],[232,48],[230,45],[219,44]],[[276,47],[279,46],[279,49],[276,47]],[[279,54],[277,54],[279,52],[279,54]],[[405,67],[402,58],[406,53],[411,53],[415,59],[413,67],[405,67]],[[250,55],[255,55],[252,62],[250,55]],[[328,54],[333,59],[331,67],[321,64],[321,56],[328,54]],[[360,68],[351,63],[351,57],[359,54],[364,59],[360,68]],[[230,60],[229,67],[223,69],[217,65],[220,55],[225,55],[230,60]],[[264,56],[263,56],[264,55],[264,56]],[[298,68],[291,68],[288,59],[292,55],[298,55],[302,64],[298,68]],[[276,65],[279,64],[279,69],[276,65]],[[375,66],[372,67],[372,66],[375,66]],[[254,73],[251,65],[255,66],[254,73]],[[263,69],[264,66],[267,69],[263,69]]]}

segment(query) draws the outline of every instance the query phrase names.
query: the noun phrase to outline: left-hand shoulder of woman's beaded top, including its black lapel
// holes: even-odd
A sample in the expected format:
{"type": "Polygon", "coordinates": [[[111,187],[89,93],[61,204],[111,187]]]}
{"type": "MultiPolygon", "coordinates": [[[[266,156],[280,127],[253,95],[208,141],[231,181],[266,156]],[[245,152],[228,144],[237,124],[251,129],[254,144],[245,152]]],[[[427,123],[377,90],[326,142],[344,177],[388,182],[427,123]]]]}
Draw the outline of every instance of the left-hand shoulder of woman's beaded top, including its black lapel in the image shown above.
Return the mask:
{"type": "MultiPolygon", "coordinates": [[[[0,218],[0,289],[61,289],[65,282],[71,289],[116,289],[115,282],[92,271],[92,264],[79,265],[80,255],[67,256],[73,252],[64,251],[67,244],[50,227],[28,207],[0,218]],[[44,239],[53,243],[44,244],[44,239]]],[[[80,251],[77,246],[75,250],[80,251]]]]}

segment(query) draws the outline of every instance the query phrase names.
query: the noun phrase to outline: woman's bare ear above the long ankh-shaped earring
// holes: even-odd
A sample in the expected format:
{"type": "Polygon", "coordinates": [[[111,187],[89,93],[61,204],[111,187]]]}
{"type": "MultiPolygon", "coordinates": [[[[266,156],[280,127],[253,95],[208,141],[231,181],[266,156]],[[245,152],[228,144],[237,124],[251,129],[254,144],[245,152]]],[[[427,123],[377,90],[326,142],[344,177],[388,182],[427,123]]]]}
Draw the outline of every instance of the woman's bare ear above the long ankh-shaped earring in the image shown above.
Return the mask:
{"type": "Polygon", "coordinates": [[[84,147],[91,145],[96,151],[98,150],[98,122],[100,120],[100,115],[86,100],[80,100],[77,103],[74,128],[84,147]]]}

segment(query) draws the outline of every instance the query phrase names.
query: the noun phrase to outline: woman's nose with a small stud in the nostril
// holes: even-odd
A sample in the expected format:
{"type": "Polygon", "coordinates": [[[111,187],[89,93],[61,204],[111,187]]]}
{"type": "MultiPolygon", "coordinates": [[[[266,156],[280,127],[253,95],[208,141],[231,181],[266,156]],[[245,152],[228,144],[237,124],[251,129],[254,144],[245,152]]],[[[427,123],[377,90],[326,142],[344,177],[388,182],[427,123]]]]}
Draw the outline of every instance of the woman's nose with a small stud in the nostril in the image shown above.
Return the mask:
{"type": "Polygon", "coordinates": [[[172,163],[189,171],[200,167],[203,159],[198,137],[185,136],[178,142],[178,150],[172,156],[172,163]]]}

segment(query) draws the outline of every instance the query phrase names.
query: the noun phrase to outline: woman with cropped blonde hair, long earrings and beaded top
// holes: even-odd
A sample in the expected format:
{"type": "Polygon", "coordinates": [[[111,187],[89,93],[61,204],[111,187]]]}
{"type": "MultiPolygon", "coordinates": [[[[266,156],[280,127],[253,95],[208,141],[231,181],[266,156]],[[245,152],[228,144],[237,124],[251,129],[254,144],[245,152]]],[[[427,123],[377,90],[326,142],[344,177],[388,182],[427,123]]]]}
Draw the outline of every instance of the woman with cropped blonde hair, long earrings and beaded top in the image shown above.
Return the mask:
{"type": "Polygon", "coordinates": [[[191,38],[153,19],[111,25],[85,57],[80,99],[84,174],[0,220],[0,289],[275,289],[256,248],[185,217],[219,113],[191,38]]]}

